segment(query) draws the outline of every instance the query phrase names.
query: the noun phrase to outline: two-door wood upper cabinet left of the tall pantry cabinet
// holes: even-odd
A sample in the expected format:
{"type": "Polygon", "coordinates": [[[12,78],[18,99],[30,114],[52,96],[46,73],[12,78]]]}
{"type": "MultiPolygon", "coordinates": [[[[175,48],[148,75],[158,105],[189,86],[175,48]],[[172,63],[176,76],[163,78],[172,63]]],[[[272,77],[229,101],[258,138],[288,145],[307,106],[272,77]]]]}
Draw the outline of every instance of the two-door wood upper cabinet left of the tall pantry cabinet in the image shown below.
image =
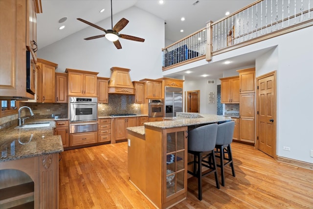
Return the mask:
{"type": "Polygon", "coordinates": [[[239,104],[239,76],[220,78],[221,103],[239,104]]]}

